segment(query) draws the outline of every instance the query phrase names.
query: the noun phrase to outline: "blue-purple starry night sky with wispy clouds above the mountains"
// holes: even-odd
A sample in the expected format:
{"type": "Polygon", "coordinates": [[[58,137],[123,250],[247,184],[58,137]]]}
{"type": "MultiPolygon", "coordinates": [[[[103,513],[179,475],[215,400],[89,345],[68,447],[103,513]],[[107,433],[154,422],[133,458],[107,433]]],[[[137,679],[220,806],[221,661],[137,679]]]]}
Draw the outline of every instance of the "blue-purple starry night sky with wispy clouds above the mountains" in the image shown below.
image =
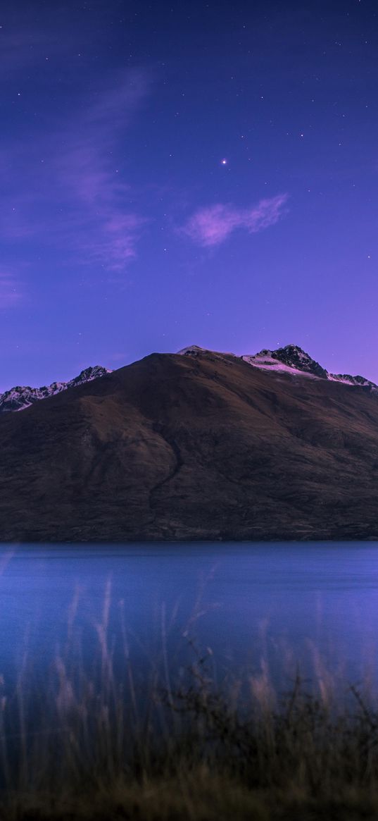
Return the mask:
{"type": "Polygon", "coordinates": [[[0,390],[189,344],[378,382],[378,5],[3,0],[0,390]]]}

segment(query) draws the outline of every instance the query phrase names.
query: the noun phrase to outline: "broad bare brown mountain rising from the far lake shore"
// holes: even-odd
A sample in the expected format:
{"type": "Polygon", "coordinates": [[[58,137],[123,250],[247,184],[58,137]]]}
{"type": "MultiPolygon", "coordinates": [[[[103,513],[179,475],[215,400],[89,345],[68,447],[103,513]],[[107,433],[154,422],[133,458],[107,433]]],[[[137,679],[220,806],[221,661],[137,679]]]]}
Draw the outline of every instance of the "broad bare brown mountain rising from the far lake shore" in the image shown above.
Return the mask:
{"type": "Polygon", "coordinates": [[[0,415],[0,539],[378,539],[376,388],[259,356],[153,354],[0,415]]]}

